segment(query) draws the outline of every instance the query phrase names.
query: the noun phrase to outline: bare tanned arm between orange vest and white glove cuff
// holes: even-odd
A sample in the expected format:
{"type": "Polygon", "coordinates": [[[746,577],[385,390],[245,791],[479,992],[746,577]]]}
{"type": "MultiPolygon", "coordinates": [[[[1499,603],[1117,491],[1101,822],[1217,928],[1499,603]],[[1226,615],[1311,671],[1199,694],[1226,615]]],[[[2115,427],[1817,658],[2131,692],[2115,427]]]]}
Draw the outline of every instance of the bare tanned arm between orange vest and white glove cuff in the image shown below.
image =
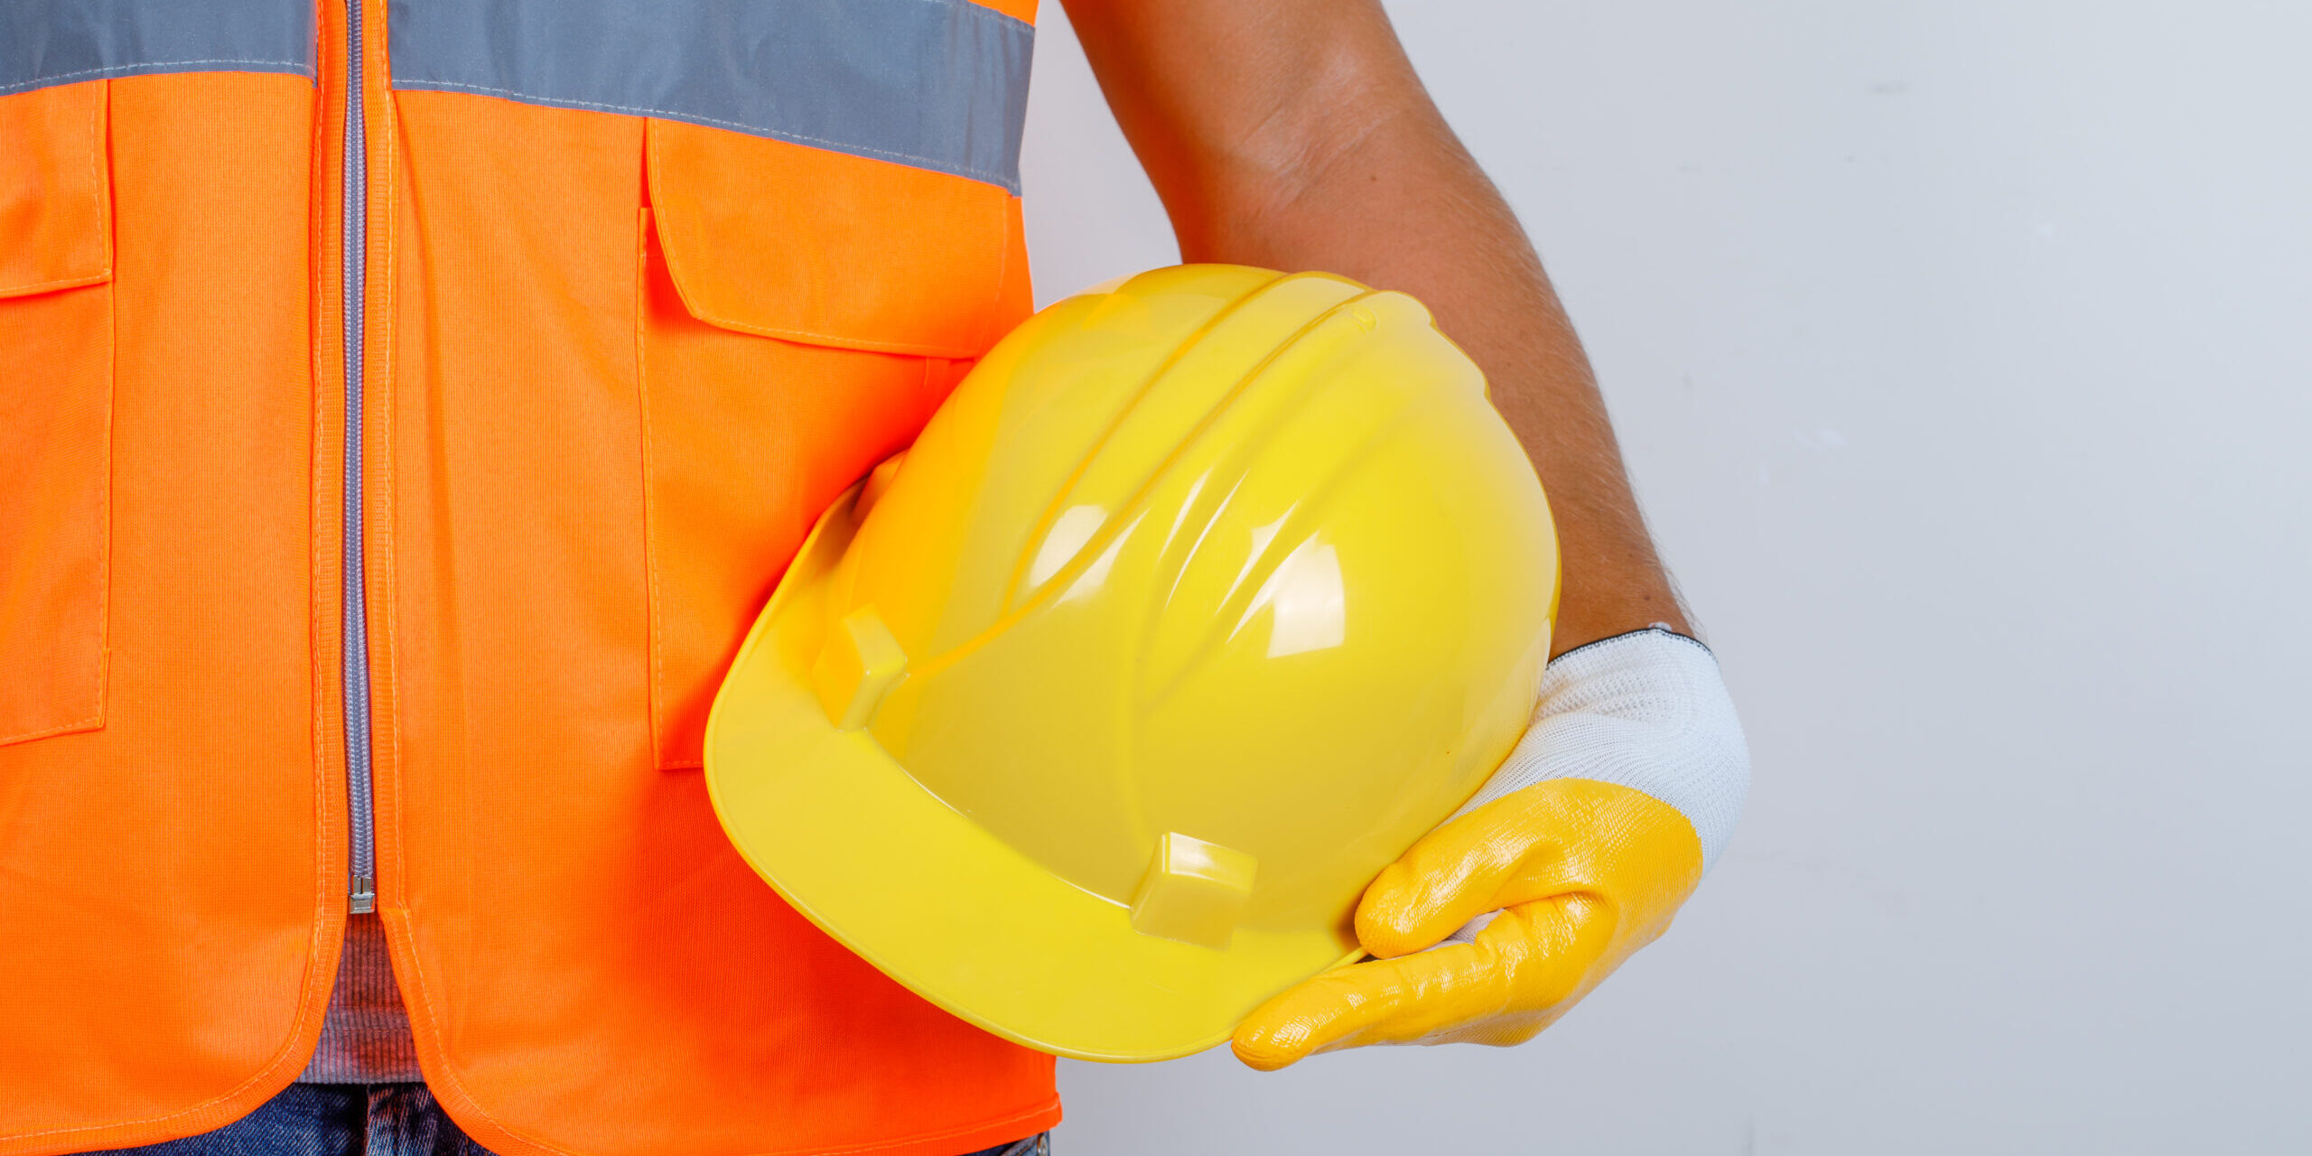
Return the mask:
{"type": "Polygon", "coordinates": [[[1070,14],[1184,259],[1403,289],[1484,368],[1558,520],[1554,650],[1648,622],[1685,629],[1581,342],[1380,9],[1075,0],[1070,14]],[[1191,79],[1172,76],[1191,65],[1191,79]]]}

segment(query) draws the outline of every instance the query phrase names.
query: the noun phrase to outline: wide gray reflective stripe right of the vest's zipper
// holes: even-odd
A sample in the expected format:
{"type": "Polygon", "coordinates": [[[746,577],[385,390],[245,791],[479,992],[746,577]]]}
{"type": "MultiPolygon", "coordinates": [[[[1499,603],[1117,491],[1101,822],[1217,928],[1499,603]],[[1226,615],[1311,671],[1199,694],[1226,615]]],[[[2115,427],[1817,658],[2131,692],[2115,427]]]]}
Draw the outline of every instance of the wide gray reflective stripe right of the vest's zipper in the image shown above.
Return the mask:
{"type": "Polygon", "coordinates": [[[398,0],[393,88],[657,116],[1020,190],[1036,30],[969,0],[398,0]]]}

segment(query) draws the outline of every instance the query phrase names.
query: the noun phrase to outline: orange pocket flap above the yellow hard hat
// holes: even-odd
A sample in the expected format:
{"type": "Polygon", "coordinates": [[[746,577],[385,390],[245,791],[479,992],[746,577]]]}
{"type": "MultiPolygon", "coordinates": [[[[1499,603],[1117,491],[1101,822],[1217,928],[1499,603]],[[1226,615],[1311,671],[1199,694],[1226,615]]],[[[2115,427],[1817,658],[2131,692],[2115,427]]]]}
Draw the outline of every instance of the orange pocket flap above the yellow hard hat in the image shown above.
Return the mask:
{"type": "Polygon", "coordinates": [[[1010,192],[909,164],[652,120],[650,201],[684,310],[740,333],[973,358],[1027,277],[1010,192]]]}

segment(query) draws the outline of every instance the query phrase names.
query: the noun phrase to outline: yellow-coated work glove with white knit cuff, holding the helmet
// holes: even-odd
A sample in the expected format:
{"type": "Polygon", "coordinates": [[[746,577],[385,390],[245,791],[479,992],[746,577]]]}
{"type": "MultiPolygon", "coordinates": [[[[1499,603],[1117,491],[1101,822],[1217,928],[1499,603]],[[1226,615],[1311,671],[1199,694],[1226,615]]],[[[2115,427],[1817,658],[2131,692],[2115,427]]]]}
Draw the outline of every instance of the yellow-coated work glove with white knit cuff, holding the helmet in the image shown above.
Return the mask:
{"type": "Polygon", "coordinates": [[[1366,888],[1357,941],[1373,959],[1255,1008],[1237,1059],[1276,1070],[1369,1043],[1533,1038],[1669,927],[1746,788],[1741,726],[1699,643],[1639,631],[1558,657],[1480,805],[1366,888]]]}

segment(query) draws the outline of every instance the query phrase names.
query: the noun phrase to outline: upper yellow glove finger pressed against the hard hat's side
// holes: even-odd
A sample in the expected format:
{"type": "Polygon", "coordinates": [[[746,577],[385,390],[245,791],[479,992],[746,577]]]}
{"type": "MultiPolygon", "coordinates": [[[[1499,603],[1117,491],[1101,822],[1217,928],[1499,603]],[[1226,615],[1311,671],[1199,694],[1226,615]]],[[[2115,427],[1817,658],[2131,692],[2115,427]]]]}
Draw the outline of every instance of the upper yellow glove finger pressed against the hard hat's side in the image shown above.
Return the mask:
{"type": "Polygon", "coordinates": [[[1468,920],[1547,897],[1528,872],[1558,853],[1558,807],[1528,786],[1429,832],[1357,902],[1357,941],[1380,959],[1431,948],[1468,920]]]}

